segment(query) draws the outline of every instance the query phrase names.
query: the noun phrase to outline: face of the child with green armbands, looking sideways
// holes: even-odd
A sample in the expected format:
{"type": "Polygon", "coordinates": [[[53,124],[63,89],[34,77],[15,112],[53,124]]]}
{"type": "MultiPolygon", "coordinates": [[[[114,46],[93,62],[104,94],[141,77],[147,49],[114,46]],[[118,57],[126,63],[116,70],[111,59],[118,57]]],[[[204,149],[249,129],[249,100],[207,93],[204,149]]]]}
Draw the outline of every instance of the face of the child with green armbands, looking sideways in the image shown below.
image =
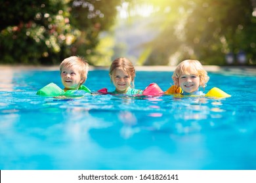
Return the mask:
{"type": "Polygon", "coordinates": [[[65,87],[64,90],[77,90],[80,84],[83,83],[83,78],[81,78],[80,73],[74,67],[63,67],[60,77],[65,87]]]}

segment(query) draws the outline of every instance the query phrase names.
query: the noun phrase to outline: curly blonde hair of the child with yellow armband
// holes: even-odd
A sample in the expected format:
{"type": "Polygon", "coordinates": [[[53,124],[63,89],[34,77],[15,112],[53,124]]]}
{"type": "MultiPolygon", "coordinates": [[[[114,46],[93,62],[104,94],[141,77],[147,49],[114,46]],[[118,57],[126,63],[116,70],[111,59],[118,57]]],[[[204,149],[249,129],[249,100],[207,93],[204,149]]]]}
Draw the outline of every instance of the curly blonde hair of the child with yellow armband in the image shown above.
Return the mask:
{"type": "Polygon", "coordinates": [[[173,82],[176,86],[179,86],[179,77],[182,74],[190,75],[198,75],[200,77],[200,86],[203,88],[206,87],[206,83],[209,80],[209,76],[207,75],[207,71],[203,69],[203,65],[200,61],[195,59],[186,59],[177,65],[174,73],[173,73],[173,82]]]}

